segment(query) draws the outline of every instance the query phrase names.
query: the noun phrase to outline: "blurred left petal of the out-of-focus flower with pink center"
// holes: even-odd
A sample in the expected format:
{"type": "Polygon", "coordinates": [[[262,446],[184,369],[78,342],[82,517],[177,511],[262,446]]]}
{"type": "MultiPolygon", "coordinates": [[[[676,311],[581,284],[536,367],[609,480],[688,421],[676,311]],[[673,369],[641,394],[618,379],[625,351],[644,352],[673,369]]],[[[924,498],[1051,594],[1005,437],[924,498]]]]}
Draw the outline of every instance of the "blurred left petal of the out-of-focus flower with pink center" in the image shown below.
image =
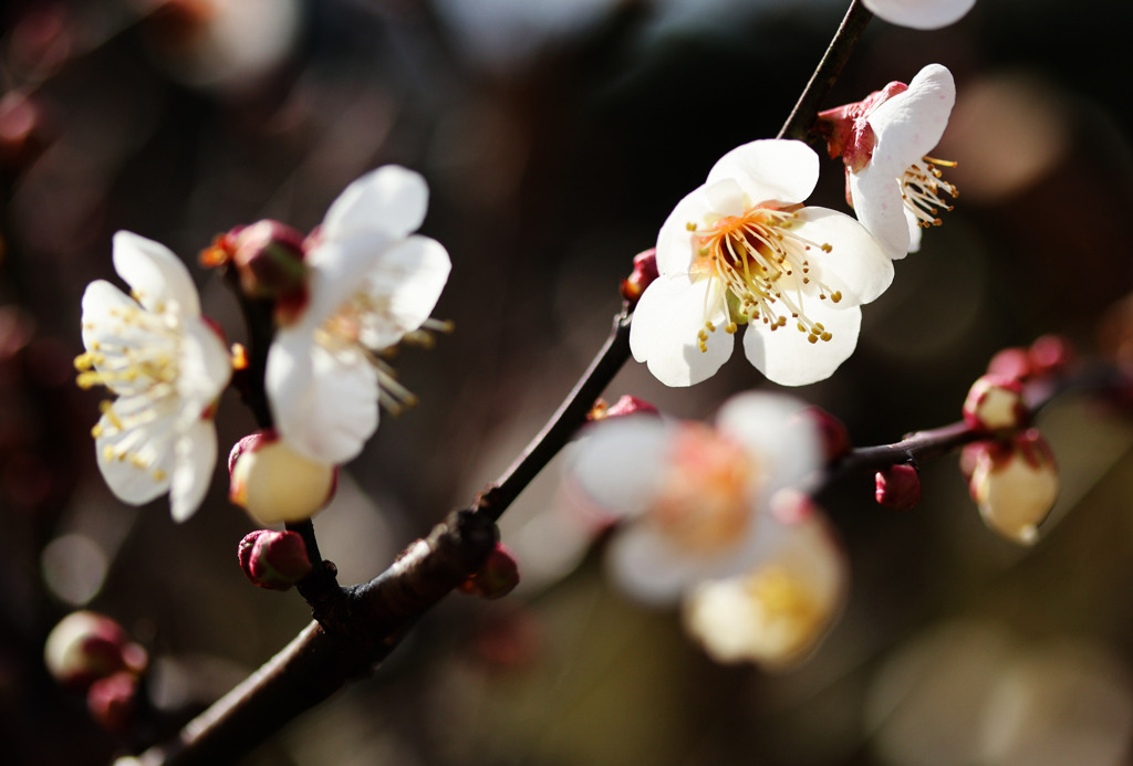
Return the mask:
{"type": "Polygon", "coordinates": [[[587,502],[611,516],[638,516],[663,477],[668,429],[659,418],[595,423],[571,451],[568,475],[587,502]]]}

